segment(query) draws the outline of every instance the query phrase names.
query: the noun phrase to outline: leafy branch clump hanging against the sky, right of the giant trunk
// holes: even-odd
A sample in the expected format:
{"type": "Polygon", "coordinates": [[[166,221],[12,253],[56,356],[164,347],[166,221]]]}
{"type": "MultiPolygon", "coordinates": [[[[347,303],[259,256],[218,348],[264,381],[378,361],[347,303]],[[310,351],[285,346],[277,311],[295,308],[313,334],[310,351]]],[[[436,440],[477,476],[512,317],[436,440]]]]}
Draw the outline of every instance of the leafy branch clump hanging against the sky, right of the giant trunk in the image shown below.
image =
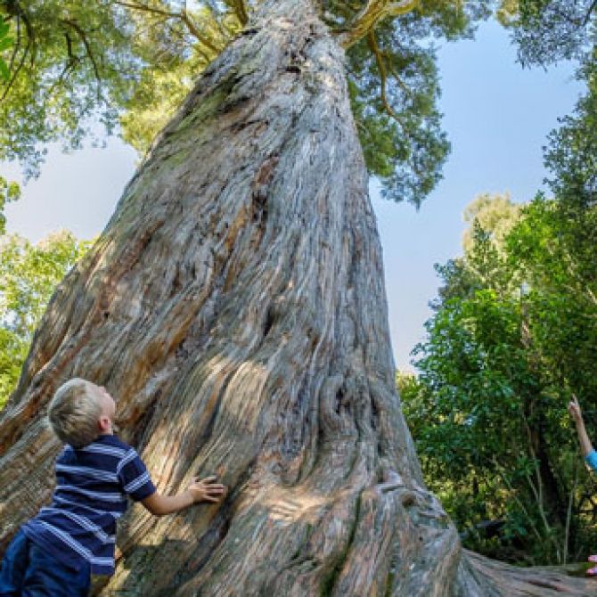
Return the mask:
{"type": "Polygon", "coordinates": [[[353,114],[369,172],[381,194],[415,206],[441,179],[450,151],[438,111],[431,39],[470,37],[488,3],[423,2],[385,20],[348,51],[353,114]]]}

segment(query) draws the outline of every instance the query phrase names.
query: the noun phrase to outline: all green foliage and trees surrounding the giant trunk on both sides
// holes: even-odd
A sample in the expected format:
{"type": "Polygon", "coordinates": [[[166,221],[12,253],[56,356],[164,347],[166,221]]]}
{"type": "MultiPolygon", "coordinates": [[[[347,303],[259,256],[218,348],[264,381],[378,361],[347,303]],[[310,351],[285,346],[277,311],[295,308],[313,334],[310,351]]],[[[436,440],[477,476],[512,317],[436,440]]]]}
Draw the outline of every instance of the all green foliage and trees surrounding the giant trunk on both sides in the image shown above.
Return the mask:
{"type": "MultiPolygon", "coordinates": [[[[355,19],[348,3],[329,4],[331,25],[355,19]]],[[[576,394],[597,440],[596,3],[414,4],[402,29],[347,43],[367,167],[390,200],[419,205],[449,152],[429,37],[470,37],[497,18],[522,65],[574,60],[585,86],[547,137],[548,191],[524,204],[487,194],[470,204],[462,257],[437,266],[417,374],[397,375],[425,478],[465,545],[521,564],[584,560],[597,545],[597,485],[566,405],[576,394]]],[[[0,159],[36,176],[47,143],[77,148],[98,122],[143,155],[244,27],[244,6],[0,1],[0,159]]],[[[0,178],[0,213],[19,195],[0,178]]],[[[55,285],[92,243],[57,233],[32,244],[1,222],[0,407],[55,285]]]]}

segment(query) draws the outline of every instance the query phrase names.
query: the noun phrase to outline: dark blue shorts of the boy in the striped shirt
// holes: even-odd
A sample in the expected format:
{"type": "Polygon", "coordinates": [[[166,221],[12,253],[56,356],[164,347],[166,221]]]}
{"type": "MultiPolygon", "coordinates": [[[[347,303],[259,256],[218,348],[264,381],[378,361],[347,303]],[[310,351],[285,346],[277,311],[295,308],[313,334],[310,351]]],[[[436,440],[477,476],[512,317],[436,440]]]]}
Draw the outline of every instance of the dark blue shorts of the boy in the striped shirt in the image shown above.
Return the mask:
{"type": "Polygon", "coordinates": [[[20,530],[4,553],[0,597],[87,597],[89,565],[73,570],[20,530]]]}

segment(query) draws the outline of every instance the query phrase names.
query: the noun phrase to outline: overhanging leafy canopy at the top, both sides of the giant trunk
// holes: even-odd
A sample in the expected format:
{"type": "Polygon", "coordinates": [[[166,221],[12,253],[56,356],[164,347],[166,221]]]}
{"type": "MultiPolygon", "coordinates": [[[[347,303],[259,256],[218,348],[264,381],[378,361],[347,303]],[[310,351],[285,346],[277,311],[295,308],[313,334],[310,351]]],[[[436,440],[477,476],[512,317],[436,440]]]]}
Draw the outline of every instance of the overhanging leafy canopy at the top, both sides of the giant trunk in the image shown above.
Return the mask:
{"type": "MultiPolygon", "coordinates": [[[[86,135],[97,141],[117,130],[143,153],[256,4],[0,0],[0,17],[14,32],[0,87],[0,119],[8,123],[0,130],[0,159],[18,159],[37,176],[47,143],[78,148],[86,135]]],[[[356,27],[367,5],[322,4],[339,34],[356,27]]],[[[367,167],[388,199],[419,205],[438,183],[449,143],[430,42],[470,37],[491,4],[422,0],[405,14],[372,19],[348,49],[367,167]]]]}

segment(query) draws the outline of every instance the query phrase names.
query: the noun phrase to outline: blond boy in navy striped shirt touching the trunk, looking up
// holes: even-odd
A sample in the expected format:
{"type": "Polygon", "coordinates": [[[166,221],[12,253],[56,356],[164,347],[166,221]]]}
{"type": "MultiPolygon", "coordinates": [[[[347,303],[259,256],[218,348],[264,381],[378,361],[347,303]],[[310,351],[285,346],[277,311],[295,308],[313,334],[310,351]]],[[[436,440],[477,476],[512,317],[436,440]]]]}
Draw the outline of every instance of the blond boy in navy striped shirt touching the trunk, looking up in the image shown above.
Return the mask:
{"type": "Polygon", "coordinates": [[[156,516],[219,502],[225,487],[193,479],[179,495],[159,495],[139,455],[114,435],[116,404],[105,388],[72,379],[53,396],[48,419],[65,444],[50,506],[12,539],[0,569],[0,597],[83,597],[91,574],[114,571],[116,521],[127,497],[156,516]]]}

